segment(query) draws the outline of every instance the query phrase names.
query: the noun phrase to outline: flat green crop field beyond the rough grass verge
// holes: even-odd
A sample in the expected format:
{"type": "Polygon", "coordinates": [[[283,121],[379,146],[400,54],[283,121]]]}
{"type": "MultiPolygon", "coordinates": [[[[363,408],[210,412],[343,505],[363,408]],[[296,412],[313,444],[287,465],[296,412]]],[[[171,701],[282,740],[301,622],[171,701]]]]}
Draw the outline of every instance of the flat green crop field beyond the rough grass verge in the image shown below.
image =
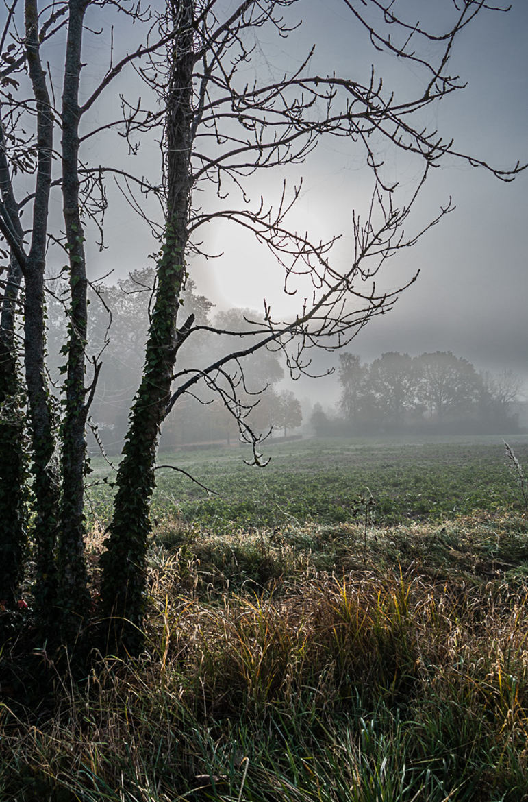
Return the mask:
{"type": "MultiPolygon", "coordinates": [[[[528,464],[528,436],[512,441],[528,464]]],[[[313,521],[338,524],[363,515],[361,497],[372,493],[373,519],[382,525],[442,520],[475,510],[497,512],[522,504],[502,439],[430,438],[394,441],[307,439],[266,441],[265,468],[248,467],[244,448],[159,455],[159,464],[183,468],[214,491],[208,495],[187,476],[159,470],[154,516],[177,517],[195,526],[277,528],[313,521]]],[[[107,476],[95,461],[94,480],[107,476]]],[[[111,493],[91,489],[91,509],[105,522],[111,493]]]]}

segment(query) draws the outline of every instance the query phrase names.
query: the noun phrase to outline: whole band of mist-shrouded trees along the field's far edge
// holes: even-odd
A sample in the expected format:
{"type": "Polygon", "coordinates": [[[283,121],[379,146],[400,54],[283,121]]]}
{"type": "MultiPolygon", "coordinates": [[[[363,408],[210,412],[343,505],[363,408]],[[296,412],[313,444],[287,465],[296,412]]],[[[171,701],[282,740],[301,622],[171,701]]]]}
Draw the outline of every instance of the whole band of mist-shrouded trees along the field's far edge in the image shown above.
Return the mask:
{"type": "MultiPolygon", "coordinates": [[[[94,454],[101,448],[109,454],[122,448],[143,367],[153,280],[148,270],[134,273],[127,282],[107,286],[92,298],[90,336],[95,346],[103,347],[111,323],[91,412],[94,454]]],[[[222,354],[228,346],[228,335],[219,338],[208,326],[244,332],[262,321],[256,310],[217,310],[194,282],[189,283],[184,306],[206,328],[183,348],[182,371],[222,354]]],[[[48,363],[52,375],[58,375],[64,319],[61,323],[60,305],[53,298],[49,311],[48,363]]],[[[377,321],[370,325],[377,326],[377,321]]],[[[297,371],[292,380],[280,350],[242,358],[236,381],[244,415],[256,435],[263,441],[268,436],[508,435],[528,427],[526,385],[515,371],[478,369],[463,354],[441,350],[413,355],[387,351],[365,359],[352,350],[359,342],[353,340],[338,353],[312,350],[305,372],[313,378],[297,371]]],[[[160,445],[163,450],[190,444],[236,445],[239,438],[236,419],[204,388],[171,411],[160,445]]]]}

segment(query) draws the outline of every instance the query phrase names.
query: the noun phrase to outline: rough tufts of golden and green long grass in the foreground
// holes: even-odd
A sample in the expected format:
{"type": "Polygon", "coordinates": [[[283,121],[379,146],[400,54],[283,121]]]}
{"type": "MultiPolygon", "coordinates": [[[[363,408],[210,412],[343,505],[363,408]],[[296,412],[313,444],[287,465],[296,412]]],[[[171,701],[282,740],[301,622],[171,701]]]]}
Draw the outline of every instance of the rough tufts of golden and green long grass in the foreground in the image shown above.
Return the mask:
{"type": "Polygon", "coordinates": [[[522,516],[166,521],[145,653],[5,700],[0,799],[526,800],[526,565],[522,516]]]}

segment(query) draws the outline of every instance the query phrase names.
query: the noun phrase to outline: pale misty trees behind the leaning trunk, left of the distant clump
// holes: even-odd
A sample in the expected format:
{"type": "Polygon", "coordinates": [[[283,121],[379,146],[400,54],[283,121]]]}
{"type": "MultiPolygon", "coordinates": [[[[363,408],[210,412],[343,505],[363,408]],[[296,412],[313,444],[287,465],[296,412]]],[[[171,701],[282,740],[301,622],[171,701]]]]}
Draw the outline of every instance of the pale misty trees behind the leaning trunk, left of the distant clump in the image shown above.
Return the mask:
{"type": "MultiPolygon", "coordinates": [[[[135,270],[118,284],[104,284],[92,293],[89,338],[94,347],[104,352],[99,382],[91,407],[92,452],[99,446],[107,454],[120,452],[127,432],[131,400],[135,395],[143,369],[144,346],[151,315],[154,269],[135,270]],[[109,336],[111,332],[111,336],[109,336]],[[99,445],[98,445],[99,442],[99,445]]],[[[206,344],[205,332],[214,326],[218,330],[247,331],[249,321],[258,315],[248,309],[232,309],[214,314],[214,304],[195,290],[189,279],[183,304],[187,314],[195,315],[195,323],[204,327],[194,339],[185,343],[180,358],[180,371],[204,359],[220,356],[224,342],[216,338],[215,353],[211,342],[206,344]]],[[[48,338],[48,368],[53,379],[62,373],[61,344],[67,326],[67,314],[59,294],[48,302],[50,334],[48,338]]],[[[227,335],[226,335],[227,338],[227,335]]],[[[220,377],[217,377],[220,381],[220,377]]],[[[302,423],[302,411],[296,396],[289,390],[278,390],[277,383],[284,379],[284,370],[277,350],[264,350],[240,360],[237,395],[240,413],[247,415],[256,431],[285,436],[302,423]],[[244,371],[244,378],[242,377],[244,371]],[[264,391],[260,395],[260,391],[264,391]]],[[[208,393],[207,387],[182,399],[177,409],[163,423],[161,448],[207,443],[224,440],[231,444],[240,435],[236,416],[229,408],[208,393]]]]}

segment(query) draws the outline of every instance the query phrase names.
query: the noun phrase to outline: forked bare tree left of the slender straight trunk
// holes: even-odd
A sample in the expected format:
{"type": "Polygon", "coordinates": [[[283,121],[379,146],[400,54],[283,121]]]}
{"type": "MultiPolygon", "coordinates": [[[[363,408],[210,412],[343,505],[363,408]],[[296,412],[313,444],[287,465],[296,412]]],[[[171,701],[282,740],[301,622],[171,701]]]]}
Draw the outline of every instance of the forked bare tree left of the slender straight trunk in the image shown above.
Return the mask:
{"type": "MultiPolygon", "coordinates": [[[[2,85],[2,106],[0,107],[0,126],[2,126],[2,204],[0,205],[0,231],[10,249],[10,268],[6,291],[2,298],[2,324],[6,322],[6,331],[10,332],[12,371],[16,370],[14,338],[16,335],[15,318],[12,315],[14,302],[18,298],[20,277],[24,280],[24,344],[23,363],[26,375],[26,393],[30,414],[30,434],[32,442],[32,472],[35,499],[34,541],[36,552],[37,583],[35,601],[46,618],[46,611],[51,610],[55,602],[56,571],[54,565],[54,545],[58,531],[58,477],[54,463],[54,409],[46,388],[45,378],[45,302],[44,272],[46,267],[46,246],[48,237],[48,212],[51,184],[51,168],[53,159],[54,117],[51,111],[50,94],[46,85],[46,74],[42,69],[40,55],[42,43],[53,30],[55,22],[64,11],[50,13],[42,22],[38,21],[38,9],[34,0],[26,0],[24,7],[25,35],[19,38],[16,34],[14,16],[16,4],[9,9],[6,26],[2,34],[2,47],[11,30],[9,56],[3,55],[3,70],[0,79],[2,85]],[[12,95],[12,89],[19,86],[21,79],[15,78],[27,69],[30,80],[30,91],[33,98],[30,103],[20,101],[12,95]],[[35,120],[33,136],[27,136],[24,128],[26,117],[35,120]],[[16,199],[14,177],[18,174],[34,175],[34,192],[32,193],[30,231],[26,233],[28,245],[24,242],[24,232],[20,222],[25,198],[16,199]],[[11,317],[10,317],[11,315],[11,317]]],[[[24,87],[26,88],[26,87],[24,87]]],[[[11,375],[12,374],[11,371],[11,375]]],[[[2,377],[3,378],[3,377],[2,377]]],[[[6,397],[8,384],[2,387],[2,395],[6,397]]],[[[15,387],[14,387],[15,389],[15,387]]],[[[6,403],[8,399],[6,399],[6,403]]],[[[4,464],[3,470],[9,469],[4,464]]],[[[6,497],[16,495],[14,484],[17,479],[10,476],[4,478],[6,497]]],[[[3,512],[3,511],[2,511],[3,512]]],[[[23,526],[22,520],[20,526],[23,526]]],[[[23,541],[22,530],[15,535],[13,543],[23,541]]],[[[18,577],[19,579],[20,577],[18,577]]],[[[3,584],[6,584],[4,582],[3,584]]],[[[11,585],[13,583],[11,582],[11,585]]]]}

